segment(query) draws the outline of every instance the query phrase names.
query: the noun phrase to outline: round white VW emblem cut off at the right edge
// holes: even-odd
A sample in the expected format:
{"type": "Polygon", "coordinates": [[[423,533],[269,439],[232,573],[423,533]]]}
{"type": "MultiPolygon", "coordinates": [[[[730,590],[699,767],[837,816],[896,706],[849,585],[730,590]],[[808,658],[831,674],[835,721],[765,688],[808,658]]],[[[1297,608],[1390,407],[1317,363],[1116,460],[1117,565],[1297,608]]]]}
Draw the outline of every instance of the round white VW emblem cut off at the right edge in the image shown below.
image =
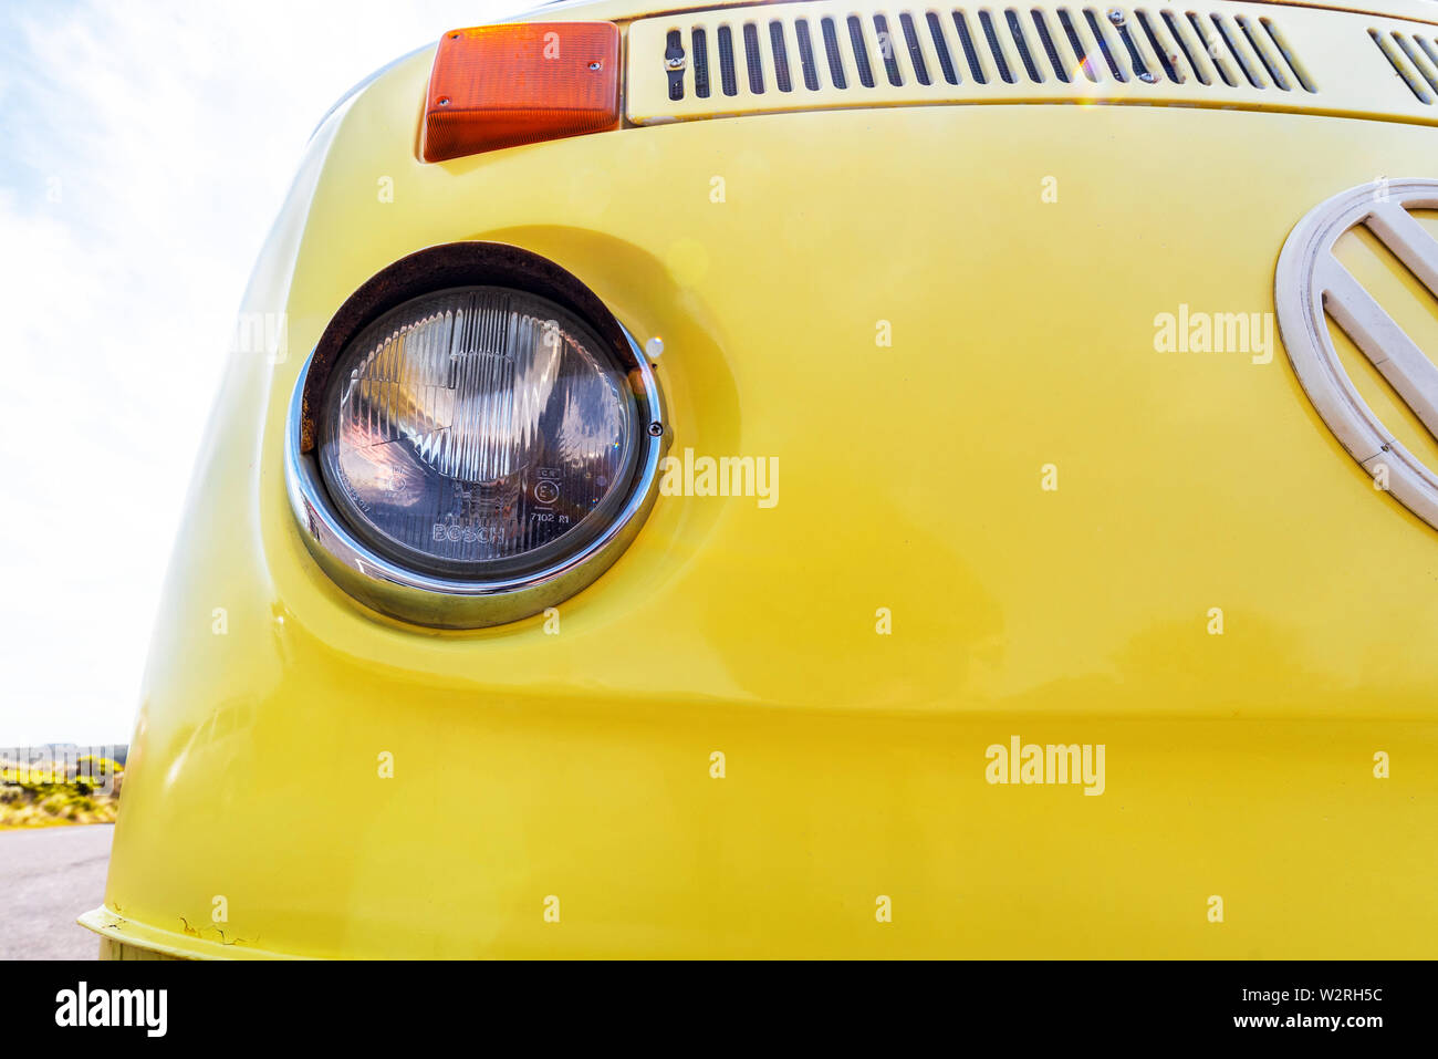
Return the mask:
{"type": "Polygon", "coordinates": [[[1438,437],[1438,365],[1333,256],[1339,236],[1362,224],[1438,298],[1438,240],[1411,209],[1438,209],[1438,180],[1379,180],[1313,209],[1278,255],[1274,308],[1288,360],[1319,416],[1375,482],[1438,528],[1438,475],[1359,396],[1327,325],[1332,317],[1438,437]]]}

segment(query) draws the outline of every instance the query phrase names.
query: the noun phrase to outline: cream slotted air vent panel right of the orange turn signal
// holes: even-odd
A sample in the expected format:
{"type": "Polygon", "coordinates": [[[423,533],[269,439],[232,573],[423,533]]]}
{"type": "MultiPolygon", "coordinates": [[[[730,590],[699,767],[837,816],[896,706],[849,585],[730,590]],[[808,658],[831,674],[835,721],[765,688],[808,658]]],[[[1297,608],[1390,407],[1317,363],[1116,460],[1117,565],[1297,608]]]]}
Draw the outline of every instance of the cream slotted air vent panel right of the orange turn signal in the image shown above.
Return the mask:
{"type": "MultiPolygon", "coordinates": [[[[800,0],[633,23],[627,106],[636,124],[935,102],[1149,102],[1403,119],[1438,101],[1432,29],[1241,1],[856,10],[800,0]],[[663,58],[673,58],[674,33],[686,56],[677,86],[663,58]],[[1323,60],[1327,83],[1303,55],[1323,60]]],[[[1438,124],[1438,106],[1424,119],[1438,124]]]]}

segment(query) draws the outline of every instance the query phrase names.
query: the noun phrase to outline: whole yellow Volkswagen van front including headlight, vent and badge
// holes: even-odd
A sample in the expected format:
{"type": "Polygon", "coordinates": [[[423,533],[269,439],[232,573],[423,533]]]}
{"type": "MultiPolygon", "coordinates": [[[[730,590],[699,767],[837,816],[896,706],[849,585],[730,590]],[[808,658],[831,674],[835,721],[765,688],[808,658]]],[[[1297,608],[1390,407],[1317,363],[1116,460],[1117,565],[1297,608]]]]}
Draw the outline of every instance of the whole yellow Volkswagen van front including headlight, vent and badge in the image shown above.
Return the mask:
{"type": "Polygon", "coordinates": [[[1438,4],[598,0],[324,119],[111,957],[1432,957],[1438,4]]]}

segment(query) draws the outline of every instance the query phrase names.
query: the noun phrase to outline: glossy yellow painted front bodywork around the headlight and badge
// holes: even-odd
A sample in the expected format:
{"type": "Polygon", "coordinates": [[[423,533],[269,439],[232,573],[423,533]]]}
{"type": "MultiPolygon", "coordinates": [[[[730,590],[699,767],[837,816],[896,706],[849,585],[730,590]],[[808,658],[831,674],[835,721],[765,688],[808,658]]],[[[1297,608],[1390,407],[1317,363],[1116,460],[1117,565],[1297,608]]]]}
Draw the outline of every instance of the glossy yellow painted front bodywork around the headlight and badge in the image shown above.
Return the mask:
{"type": "Polygon", "coordinates": [[[326,122],[257,265],[288,355],[229,365],[88,925],[201,957],[1438,955],[1438,531],[1281,347],[1155,351],[1181,304],[1271,312],[1293,223],[1438,177],[1438,132],[892,106],[424,165],[429,66],[326,122]],[[286,406],[360,283],[464,239],[661,335],[673,452],[775,456],[778,504],[660,496],[558,635],[357,606],[295,530],[286,406]],[[988,783],[1012,735],[1103,744],[1104,793],[988,783]]]}

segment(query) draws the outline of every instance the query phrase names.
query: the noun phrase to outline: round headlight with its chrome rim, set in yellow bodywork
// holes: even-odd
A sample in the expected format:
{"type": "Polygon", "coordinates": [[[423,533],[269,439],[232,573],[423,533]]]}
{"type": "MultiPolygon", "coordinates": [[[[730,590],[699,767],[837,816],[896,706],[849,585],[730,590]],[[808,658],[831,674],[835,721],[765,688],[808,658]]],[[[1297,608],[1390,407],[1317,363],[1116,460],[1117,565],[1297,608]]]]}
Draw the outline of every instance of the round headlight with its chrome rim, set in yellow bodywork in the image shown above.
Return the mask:
{"type": "MultiPolygon", "coordinates": [[[[394,302],[404,286],[383,289],[394,302]]],[[[331,577],[453,627],[538,613],[598,577],[653,501],[664,435],[633,341],[496,283],[368,317],[322,386],[306,365],[292,410],[290,498],[331,577]]]]}

